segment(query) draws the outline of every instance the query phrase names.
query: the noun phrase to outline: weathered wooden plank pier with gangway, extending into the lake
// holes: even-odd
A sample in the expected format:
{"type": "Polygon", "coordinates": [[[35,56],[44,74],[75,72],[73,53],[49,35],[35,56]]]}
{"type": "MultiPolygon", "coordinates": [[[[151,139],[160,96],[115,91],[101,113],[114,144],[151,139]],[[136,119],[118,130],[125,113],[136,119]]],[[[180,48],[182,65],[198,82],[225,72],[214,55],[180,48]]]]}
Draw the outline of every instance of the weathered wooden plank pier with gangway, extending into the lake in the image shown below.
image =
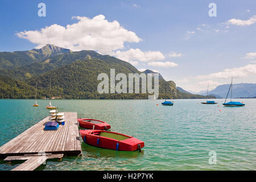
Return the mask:
{"type": "Polygon", "coordinates": [[[63,155],[81,155],[77,113],[65,112],[65,125],[56,131],[44,131],[49,117],[0,147],[0,158],[6,161],[26,160],[13,170],[34,170],[47,159],[63,155]]]}

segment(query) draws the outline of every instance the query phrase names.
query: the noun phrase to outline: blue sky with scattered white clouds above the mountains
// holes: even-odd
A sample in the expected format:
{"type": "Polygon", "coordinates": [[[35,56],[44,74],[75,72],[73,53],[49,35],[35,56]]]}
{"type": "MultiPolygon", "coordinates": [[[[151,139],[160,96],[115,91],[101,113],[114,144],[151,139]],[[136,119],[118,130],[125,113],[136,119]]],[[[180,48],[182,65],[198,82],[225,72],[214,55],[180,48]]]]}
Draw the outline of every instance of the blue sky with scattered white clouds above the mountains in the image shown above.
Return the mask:
{"type": "Polygon", "coordinates": [[[0,12],[0,51],[39,48],[46,42],[74,51],[94,49],[129,61],[140,70],[158,71],[166,80],[193,92],[205,90],[208,83],[210,89],[229,83],[231,76],[235,83],[256,82],[255,1],[2,0],[0,12]],[[38,16],[41,2],[46,4],[46,17],[38,16]],[[217,6],[216,17],[208,15],[212,2],[217,6]],[[94,27],[96,16],[100,29],[94,27]],[[119,23],[118,39],[108,35],[115,32],[107,30],[116,26],[113,21],[119,23]],[[72,38],[66,30],[54,40],[49,37],[51,31],[40,32],[52,26],[59,35],[68,24],[76,29],[72,38]],[[33,34],[36,30],[38,38],[33,34]],[[94,42],[86,44],[88,37],[83,34],[91,33],[94,42]],[[73,46],[76,42],[79,47],[73,46]]]}

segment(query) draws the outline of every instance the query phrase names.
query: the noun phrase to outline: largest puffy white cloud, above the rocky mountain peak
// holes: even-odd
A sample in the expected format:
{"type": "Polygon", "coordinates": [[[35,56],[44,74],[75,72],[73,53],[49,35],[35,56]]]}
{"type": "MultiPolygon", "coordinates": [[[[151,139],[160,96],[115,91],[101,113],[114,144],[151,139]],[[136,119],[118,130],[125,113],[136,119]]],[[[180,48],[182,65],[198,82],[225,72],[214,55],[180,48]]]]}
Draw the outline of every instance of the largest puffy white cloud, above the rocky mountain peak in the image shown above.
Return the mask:
{"type": "Polygon", "coordinates": [[[38,44],[36,48],[49,43],[73,51],[94,50],[103,54],[124,48],[125,42],[138,43],[142,40],[134,32],[120,26],[116,20],[109,22],[104,15],[97,15],[92,19],[73,16],[72,19],[77,19],[78,22],[66,27],[52,24],[41,30],[23,31],[16,35],[38,44]]]}

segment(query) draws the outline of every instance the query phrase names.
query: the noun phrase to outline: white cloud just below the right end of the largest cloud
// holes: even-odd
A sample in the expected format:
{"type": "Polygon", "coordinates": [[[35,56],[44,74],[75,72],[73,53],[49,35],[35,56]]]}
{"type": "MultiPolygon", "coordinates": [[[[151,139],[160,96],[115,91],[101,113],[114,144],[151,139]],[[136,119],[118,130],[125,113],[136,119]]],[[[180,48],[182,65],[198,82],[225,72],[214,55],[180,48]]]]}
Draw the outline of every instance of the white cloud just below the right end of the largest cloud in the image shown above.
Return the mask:
{"type": "Polygon", "coordinates": [[[140,49],[129,49],[128,51],[116,51],[113,52],[113,56],[116,56],[118,59],[130,62],[132,60],[138,61],[155,61],[165,59],[164,55],[160,51],[146,51],[143,52],[140,49]]]}

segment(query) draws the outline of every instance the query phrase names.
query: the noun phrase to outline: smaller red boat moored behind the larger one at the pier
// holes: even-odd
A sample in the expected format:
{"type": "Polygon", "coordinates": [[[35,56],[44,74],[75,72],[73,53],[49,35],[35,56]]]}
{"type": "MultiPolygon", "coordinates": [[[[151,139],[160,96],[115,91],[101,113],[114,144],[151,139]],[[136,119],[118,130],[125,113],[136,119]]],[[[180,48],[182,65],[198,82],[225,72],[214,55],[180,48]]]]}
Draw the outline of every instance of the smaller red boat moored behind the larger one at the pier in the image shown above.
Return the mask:
{"type": "Polygon", "coordinates": [[[77,119],[77,121],[79,126],[84,129],[108,130],[111,128],[108,123],[96,119],[77,119]]]}

